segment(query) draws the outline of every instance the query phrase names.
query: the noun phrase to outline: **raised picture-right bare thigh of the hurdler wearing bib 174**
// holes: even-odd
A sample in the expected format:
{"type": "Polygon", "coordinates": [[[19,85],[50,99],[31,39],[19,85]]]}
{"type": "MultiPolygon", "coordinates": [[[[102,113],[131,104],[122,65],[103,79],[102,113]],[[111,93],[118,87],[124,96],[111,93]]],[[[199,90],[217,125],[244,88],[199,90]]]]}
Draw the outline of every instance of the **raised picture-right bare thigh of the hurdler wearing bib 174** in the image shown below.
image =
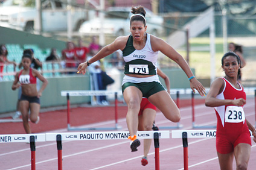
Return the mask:
{"type": "Polygon", "coordinates": [[[149,96],[149,101],[155,105],[167,119],[171,119],[172,115],[179,115],[177,105],[166,91],[160,91],[149,96]]]}

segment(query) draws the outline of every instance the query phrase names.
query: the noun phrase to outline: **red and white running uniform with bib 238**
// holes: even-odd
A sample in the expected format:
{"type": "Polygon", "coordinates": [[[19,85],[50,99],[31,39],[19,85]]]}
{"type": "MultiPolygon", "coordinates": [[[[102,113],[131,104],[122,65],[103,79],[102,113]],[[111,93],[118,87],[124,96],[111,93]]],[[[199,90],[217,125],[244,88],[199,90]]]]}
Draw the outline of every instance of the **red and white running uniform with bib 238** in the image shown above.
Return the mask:
{"type": "MultiPolygon", "coordinates": [[[[216,96],[216,98],[243,98],[246,100],[245,90],[239,83],[240,89],[236,89],[225,78],[223,78],[223,81],[225,82],[224,89],[222,93],[216,96]]],[[[217,116],[216,148],[218,153],[231,153],[238,143],[248,143],[249,145],[252,145],[243,106],[222,105],[214,107],[214,109],[217,116]]]]}

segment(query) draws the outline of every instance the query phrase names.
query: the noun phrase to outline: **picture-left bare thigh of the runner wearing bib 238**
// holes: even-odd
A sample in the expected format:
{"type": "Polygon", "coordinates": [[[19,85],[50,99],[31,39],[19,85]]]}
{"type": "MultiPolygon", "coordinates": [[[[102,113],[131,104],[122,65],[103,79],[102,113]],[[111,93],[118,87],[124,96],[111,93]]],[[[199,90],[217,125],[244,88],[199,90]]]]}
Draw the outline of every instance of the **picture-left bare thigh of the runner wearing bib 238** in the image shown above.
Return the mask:
{"type": "Polygon", "coordinates": [[[220,163],[220,169],[221,170],[232,170],[232,164],[234,159],[233,152],[229,154],[220,154],[218,153],[219,163],[220,163]]]}

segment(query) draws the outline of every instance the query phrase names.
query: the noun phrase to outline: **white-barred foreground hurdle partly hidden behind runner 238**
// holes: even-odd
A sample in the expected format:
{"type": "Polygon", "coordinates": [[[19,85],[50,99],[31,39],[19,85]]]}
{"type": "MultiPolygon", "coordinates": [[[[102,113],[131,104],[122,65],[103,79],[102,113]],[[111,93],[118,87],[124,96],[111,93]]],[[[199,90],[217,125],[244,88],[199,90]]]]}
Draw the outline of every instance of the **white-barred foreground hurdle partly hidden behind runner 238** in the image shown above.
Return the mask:
{"type": "MultiPolygon", "coordinates": [[[[251,137],[252,132],[249,130],[251,137]]],[[[171,138],[182,138],[184,170],[188,170],[188,138],[213,138],[216,130],[172,130],[171,138]]]]}

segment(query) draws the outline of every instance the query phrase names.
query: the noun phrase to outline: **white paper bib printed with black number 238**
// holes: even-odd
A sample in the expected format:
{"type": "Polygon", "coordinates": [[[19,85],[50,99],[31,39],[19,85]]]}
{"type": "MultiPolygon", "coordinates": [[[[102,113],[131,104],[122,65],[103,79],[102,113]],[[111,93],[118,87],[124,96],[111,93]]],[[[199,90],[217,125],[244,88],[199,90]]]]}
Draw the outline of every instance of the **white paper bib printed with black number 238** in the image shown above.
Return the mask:
{"type": "Polygon", "coordinates": [[[239,123],[245,121],[245,112],[243,107],[229,105],[226,107],[225,122],[239,123]]]}

